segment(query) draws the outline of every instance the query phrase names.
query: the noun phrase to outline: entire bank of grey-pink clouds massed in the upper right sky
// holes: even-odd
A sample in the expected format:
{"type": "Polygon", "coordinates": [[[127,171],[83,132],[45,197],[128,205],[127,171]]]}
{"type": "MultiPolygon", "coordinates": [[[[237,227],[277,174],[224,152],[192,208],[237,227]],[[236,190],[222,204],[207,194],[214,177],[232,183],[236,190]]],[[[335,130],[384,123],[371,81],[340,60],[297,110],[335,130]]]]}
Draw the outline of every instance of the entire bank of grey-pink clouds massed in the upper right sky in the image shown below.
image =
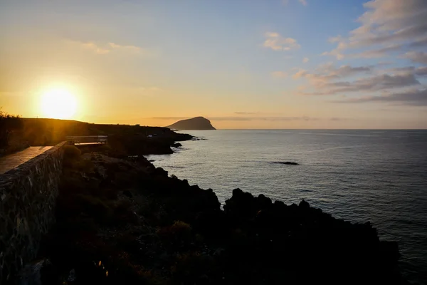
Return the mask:
{"type": "MultiPolygon", "coordinates": [[[[399,68],[386,66],[325,65],[314,71],[298,70],[292,78],[305,79],[307,85],[296,91],[301,95],[342,95],[357,97],[339,102],[394,102],[426,105],[426,90],[421,78],[427,76],[427,1],[371,0],[363,4],[358,26],[347,36],[329,38],[335,44],[323,56],[343,58],[401,58],[408,63],[399,68]],[[411,63],[409,63],[411,62],[411,63]],[[354,78],[356,77],[357,78],[354,78]],[[344,79],[345,78],[345,79],[344,79]],[[415,103],[416,102],[416,103],[415,103]]],[[[400,62],[399,62],[400,63],[400,62]]]]}

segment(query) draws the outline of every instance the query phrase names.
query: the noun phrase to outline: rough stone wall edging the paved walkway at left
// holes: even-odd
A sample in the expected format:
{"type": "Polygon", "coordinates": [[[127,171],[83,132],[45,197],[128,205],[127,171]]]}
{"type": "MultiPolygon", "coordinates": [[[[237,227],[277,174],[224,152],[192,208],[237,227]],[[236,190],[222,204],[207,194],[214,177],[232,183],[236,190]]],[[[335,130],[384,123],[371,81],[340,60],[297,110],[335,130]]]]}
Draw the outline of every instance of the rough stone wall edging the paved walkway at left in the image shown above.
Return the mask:
{"type": "Polygon", "coordinates": [[[0,175],[0,284],[36,257],[55,222],[64,143],[0,175]]]}

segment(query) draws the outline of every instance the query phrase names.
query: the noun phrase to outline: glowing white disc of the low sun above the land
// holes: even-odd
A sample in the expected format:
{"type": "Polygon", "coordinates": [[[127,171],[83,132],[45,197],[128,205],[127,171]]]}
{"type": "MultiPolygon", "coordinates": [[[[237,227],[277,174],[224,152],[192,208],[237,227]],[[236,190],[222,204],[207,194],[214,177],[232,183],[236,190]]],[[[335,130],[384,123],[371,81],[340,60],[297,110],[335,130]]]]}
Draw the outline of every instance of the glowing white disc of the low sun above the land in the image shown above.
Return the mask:
{"type": "Polygon", "coordinates": [[[47,118],[70,119],[77,110],[77,100],[64,88],[47,90],[43,93],[41,110],[47,118]]]}

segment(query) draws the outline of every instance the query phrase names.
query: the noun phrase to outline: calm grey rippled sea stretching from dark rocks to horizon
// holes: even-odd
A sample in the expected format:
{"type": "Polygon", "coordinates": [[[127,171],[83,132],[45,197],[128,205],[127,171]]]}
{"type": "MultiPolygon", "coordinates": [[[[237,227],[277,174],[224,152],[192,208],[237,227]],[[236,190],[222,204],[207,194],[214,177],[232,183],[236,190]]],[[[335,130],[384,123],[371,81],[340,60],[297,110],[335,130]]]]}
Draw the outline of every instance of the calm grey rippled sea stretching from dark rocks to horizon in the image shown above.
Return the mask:
{"type": "Polygon", "coordinates": [[[427,284],[427,130],[187,131],[154,165],[212,188],[220,202],[241,188],[286,204],[306,199],[334,217],[371,221],[399,242],[401,269],[427,284]],[[280,165],[272,162],[297,162],[280,165]]]}

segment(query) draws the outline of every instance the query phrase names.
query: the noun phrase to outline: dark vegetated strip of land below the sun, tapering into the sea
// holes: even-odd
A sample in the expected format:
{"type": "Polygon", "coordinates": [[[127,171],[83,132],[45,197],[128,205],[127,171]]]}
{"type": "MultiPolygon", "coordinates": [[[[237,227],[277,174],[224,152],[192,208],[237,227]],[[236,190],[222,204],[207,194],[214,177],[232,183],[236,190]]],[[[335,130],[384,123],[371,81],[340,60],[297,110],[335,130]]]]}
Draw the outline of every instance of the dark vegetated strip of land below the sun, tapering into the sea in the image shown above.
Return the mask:
{"type": "Polygon", "coordinates": [[[116,155],[173,153],[171,146],[176,141],[192,138],[191,135],[174,133],[169,128],[20,118],[0,112],[0,150],[4,150],[3,154],[28,146],[56,145],[68,135],[108,135],[116,155]]]}

